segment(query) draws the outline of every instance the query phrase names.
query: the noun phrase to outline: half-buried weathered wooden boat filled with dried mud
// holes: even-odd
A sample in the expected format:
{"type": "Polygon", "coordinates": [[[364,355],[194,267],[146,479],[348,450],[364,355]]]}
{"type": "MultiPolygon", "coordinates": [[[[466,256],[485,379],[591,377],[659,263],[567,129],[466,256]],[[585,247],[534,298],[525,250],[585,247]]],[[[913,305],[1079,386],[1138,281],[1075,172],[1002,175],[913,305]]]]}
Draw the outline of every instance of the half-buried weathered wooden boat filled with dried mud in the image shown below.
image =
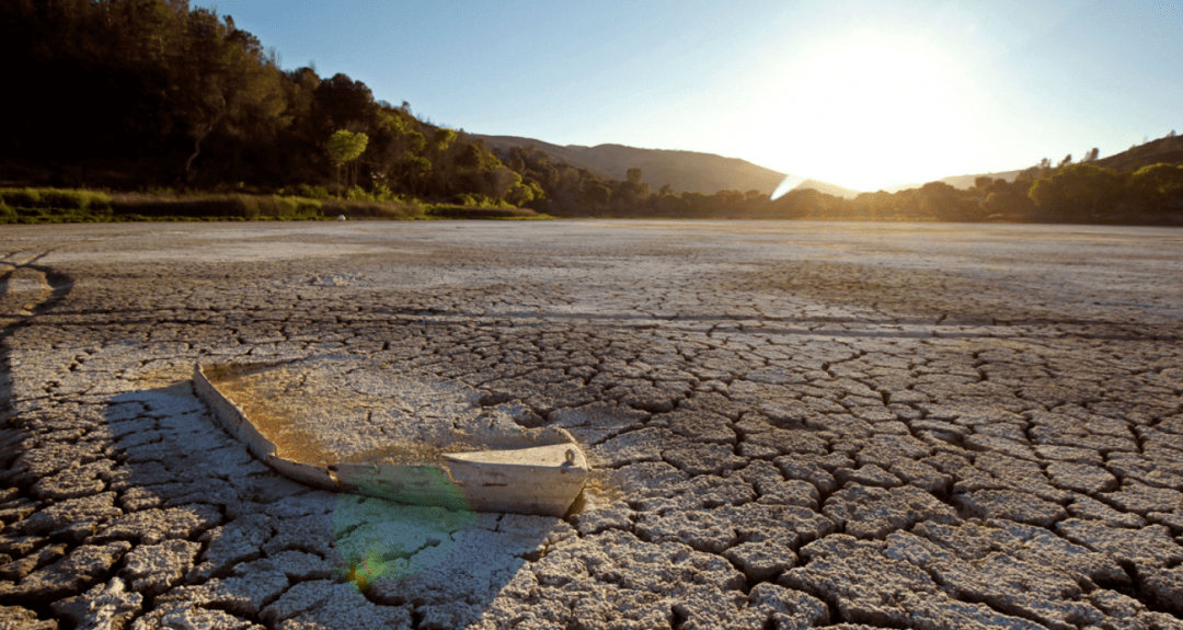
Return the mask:
{"type": "Polygon", "coordinates": [[[252,455],[325,490],[562,516],[588,477],[565,430],[521,426],[467,385],[356,358],[198,362],[193,385],[252,455]]]}

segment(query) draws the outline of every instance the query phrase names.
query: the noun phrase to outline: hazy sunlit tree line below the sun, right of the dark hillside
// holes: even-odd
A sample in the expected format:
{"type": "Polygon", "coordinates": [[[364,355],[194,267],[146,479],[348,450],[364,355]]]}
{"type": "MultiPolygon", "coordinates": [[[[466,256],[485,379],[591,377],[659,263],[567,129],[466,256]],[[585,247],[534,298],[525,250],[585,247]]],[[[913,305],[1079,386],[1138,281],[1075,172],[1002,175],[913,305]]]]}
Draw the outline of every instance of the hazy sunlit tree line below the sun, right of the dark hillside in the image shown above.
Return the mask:
{"type": "MultiPolygon", "coordinates": [[[[518,155],[522,153],[526,152],[518,155]]],[[[608,216],[1183,224],[1183,166],[1153,163],[1121,173],[1098,166],[1098,153],[1090,150],[1079,163],[1073,163],[1071,155],[1056,166],[1045,159],[1014,181],[983,176],[969,189],[932,181],[919,188],[862,193],[854,199],[812,188],[790,191],[776,200],[761,191],[719,191],[707,195],[674,193],[662,186],[652,192],[636,169],[629,171],[627,181],[592,182],[580,197],[574,189],[563,188],[561,179],[552,184],[551,173],[561,171],[547,167],[545,160],[535,158],[525,163],[530,176],[545,182],[544,189],[552,201],[577,198],[576,211],[608,216]],[[531,165],[545,168],[539,171],[531,165]]],[[[563,213],[565,208],[556,210],[563,213]]]]}

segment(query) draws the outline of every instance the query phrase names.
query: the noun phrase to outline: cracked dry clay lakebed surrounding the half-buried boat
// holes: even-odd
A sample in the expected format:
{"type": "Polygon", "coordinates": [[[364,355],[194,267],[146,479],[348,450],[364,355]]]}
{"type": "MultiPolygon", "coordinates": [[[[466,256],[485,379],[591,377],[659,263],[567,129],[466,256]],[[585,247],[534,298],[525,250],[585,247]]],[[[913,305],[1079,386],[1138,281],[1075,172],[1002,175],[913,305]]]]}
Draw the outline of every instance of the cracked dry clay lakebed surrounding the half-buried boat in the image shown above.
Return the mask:
{"type": "Polygon", "coordinates": [[[7,226],[0,279],[4,629],[1183,628],[1179,230],[7,226]],[[310,490],[188,380],[330,355],[565,427],[583,504],[310,490]]]}

